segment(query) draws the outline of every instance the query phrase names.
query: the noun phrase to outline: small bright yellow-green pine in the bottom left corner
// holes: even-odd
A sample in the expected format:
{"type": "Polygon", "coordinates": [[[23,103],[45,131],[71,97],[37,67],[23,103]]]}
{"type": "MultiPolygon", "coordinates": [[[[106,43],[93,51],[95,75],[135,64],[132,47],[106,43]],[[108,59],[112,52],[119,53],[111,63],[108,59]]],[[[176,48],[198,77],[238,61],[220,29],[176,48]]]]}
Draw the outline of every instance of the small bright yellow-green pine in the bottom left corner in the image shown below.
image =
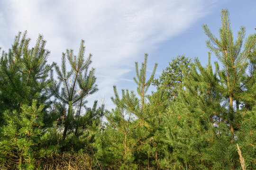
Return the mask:
{"type": "Polygon", "coordinates": [[[15,164],[20,170],[34,170],[36,159],[45,157],[53,148],[42,148],[48,140],[43,127],[43,104],[37,108],[33,101],[30,107],[22,105],[21,112],[5,111],[6,125],[0,132],[1,166],[15,164]]]}

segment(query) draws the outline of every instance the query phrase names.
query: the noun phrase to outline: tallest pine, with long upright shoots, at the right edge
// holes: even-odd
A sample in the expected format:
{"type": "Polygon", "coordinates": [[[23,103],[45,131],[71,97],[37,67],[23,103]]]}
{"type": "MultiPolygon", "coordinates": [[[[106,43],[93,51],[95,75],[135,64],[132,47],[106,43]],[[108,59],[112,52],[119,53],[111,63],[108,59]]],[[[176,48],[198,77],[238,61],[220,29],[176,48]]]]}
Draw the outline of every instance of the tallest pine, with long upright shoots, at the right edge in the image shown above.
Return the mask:
{"type": "MultiPolygon", "coordinates": [[[[229,122],[230,130],[234,134],[235,129],[238,128],[234,119],[236,112],[239,111],[239,103],[251,101],[255,98],[255,92],[244,93],[244,89],[249,83],[248,81],[253,81],[251,77],[254,76],[255,68],[251,68],[250,75],[247,75],[247,68],[248,60],[254,60],[256,57],[256,34],[249,35],[243,44],[246,29],[241,27],[238,31],[237,40],[234,40],[227,9],[221,11],[219,39],[210,32],[207,25],[203,25],[203,30],[209,37],[209,41],[206,42],[208,48],[213,51],[223,65],[223,69],[219,70],[219,76],[222,80],[223,93],[229,97],[229,114],[225,119],[229,122]],[[233,102],[236,102],[236,110],[233,102]]],[[[251,60],[251,62],[255,61],[251,60]]],[[[251,66],[255,66],[255,64],[251,66]]]]}

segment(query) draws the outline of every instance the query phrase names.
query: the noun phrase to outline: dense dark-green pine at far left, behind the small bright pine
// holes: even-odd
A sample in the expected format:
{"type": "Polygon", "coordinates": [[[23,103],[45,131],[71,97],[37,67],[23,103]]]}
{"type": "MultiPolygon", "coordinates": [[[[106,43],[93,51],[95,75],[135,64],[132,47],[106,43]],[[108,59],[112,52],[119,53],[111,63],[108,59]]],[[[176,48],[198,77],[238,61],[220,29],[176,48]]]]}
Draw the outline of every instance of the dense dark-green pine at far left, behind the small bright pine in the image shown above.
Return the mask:
{"type": "MultiPolygon", "coordinates": [[[[49,107],[48,93],[52,81],[48,74],[54,63],[47,64],[50,51],[45,49],[46,41],[38,36],[35,47],[29,49],[27,32],[22,36],[19,32],[15,37],[12,48],[2,51],[0,59],[0,113],[4,110],[20,110],[22,104],[30,105],[32,100],[49,107]]],[[[45,112],[46,113],[46,112],[45,112]]],[[[46,115],[45,115],[46,116],[46,115]]],[[[0,122],[2,116],[0,115],[0,122]]]]}

